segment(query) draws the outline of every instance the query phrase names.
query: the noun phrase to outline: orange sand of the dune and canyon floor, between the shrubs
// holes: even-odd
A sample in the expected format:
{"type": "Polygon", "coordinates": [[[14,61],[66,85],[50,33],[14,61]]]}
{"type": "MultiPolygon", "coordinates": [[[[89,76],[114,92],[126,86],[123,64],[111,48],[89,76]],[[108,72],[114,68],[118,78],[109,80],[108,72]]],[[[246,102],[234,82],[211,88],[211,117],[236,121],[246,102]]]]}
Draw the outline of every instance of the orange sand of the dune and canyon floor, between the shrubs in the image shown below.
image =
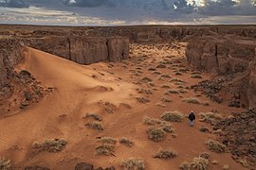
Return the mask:
{"type": "MultiPolygon", "coordinates": [[[[17,167],[27,165],[44,165],[51,169],[73,169],[79,161],[86,161],[96,166],[114,165],[118,169],[120,161],[129,157],[142,158],[146,169],[178,169],[182,161],[192,161],[200,152],[208,151],[205,143],[214,135],[199,131],[200,123],[189,127],[187,120],[174,123],[177,138],[170,135],[163,142],[155,143],[147,138],[147,126],[143,124],[145,115],[159,118],[163,111],[179,110],[187,114],[190,110],[219,110],[229,115],[234,109],[210,102],[210,106],[198,106],[181,102],[184,97],[195,96],[188,93],[165,95],[167,89],[160,88],[168,84],[176,88],[170,78],[158,79],[157,75],[148,71],[163,59],[178,59],[184,55],[180,44],[170,46],[140,46],[134,45],[132,59],[121,63],[98,63],[82,66],[74,62],[57,58],[47,53],[27,48],[27,58],[17,69],[26,69],[45,87],[53,87],[54,92],[47,95],[40,103],[23,110],[20,113],[0,120],[1,140],[0,156],[5,156],[17,167]],[[169,56],[169,57],[168,57],[169,56]],[[170,57],[173,56],[173,57],[170,57]],[[139,73],[137,72],[139,71],[139,73]],[[153,79],[155,86],[146,83],[137,84],[143,76],[153,79]],[[137,88],[150,89],[153,94],[139,94],[137,88]],[[137,96],[150,99],[147,104],[138,103],[137,96]],[[172,103],[161,103],[161,97],[172,98],[172,103]],[[106,105],[109,102],[112,105],[106,105]],[[161,106],[157,105],[161,103],[161,106]],[[132,108],[127,107],[130,105],[132,108]],[[110,106],[110,107],[109,107],[110,106]],[[106,111],[113,110],[113,113],[106,111]],[[82,119],[86,112],[101,114],[104,130],[85,127],[91,119],[82,119]],[[128,137],[135,143],[133,147],[116,144],[116,157],[98,156],[95,147],[99,145],[97,137],[110,136],[119,139],[128,137]],[[43,142],[49,138],[64,138],[67,145],[60,153],[34,153],[31,145],[34,141],[43,142]],[[153,159],[152,155],[159,147],[172,147],[178,153],[174,160],[153,159]]],[[[182,59],[182,58],[180,58],[182,59]]],[[[201,79],[192,79],[192,69],[182,60],[182,64],[190,71],[178,76],[190,87],[201,79]]],[[[174,76],[174,70],[159,68],[161,74],[174,76]]],[[[207,78],[208,75],[203,75],[207,78]]],[[[200,100],[209,100],[200,96],[200,100]]],[[[210,151],[208,151],[210,152],[210,151]]],[[[214,154],[210,152],[211,161],[219,161],[218,165],[210,165],[210,169],[221,169],[229,164],[230,169],[243,169],[233,161],[229,154],[214,154]]]]}

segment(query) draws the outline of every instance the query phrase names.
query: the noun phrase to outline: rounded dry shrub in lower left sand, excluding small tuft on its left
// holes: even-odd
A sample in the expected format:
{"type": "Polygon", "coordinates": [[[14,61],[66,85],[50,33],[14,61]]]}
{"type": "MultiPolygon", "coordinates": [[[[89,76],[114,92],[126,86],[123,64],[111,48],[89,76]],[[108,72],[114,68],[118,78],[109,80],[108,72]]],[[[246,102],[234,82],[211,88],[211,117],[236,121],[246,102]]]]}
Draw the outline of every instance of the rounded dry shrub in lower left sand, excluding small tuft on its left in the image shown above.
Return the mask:
{"type": "Polygon", "coordinates": [[[60,152],[65,144],[67,143],[64,139],[47,139],[42,146],[48,152],[60,152]]]}

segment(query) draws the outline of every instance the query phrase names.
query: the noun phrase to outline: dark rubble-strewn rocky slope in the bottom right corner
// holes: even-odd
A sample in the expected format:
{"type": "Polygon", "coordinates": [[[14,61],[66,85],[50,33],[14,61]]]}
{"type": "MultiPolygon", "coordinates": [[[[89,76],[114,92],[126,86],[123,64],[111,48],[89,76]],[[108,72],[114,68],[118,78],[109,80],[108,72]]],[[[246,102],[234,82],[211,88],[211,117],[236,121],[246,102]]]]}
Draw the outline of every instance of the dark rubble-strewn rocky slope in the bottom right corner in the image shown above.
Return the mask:
{"type": "Polygon", "coordinates": [[[247,160],[256,165],[256,110],[233,113],[232,118],[219,122],[220,141],[226,144],[235,161],[247,160]]]}

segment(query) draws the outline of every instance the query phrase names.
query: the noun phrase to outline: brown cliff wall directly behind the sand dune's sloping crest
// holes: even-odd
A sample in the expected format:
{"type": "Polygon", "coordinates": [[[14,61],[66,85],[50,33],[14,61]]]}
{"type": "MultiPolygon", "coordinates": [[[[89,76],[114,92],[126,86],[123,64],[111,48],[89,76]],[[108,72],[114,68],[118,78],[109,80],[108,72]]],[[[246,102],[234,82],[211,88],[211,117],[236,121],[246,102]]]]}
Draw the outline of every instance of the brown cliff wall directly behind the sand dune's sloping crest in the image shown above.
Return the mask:
{"type": "Polygon", "coordinates": [[[129,58],[129,39],[122,37],[47,37],[24,39],[27,46],[80,64],[129,58]]]}

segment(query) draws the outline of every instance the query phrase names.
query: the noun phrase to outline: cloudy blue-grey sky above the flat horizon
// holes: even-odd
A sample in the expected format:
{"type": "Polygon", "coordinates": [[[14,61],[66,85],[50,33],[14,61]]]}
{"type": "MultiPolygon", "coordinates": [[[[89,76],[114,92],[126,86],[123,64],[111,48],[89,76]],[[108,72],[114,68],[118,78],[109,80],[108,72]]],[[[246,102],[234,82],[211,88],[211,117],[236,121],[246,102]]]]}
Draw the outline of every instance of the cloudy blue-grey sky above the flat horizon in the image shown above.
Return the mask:
{"type": "Polygon", "coordinates": [[[256,0],[0,0],[0,24],[255,25],[256,0]]]}

